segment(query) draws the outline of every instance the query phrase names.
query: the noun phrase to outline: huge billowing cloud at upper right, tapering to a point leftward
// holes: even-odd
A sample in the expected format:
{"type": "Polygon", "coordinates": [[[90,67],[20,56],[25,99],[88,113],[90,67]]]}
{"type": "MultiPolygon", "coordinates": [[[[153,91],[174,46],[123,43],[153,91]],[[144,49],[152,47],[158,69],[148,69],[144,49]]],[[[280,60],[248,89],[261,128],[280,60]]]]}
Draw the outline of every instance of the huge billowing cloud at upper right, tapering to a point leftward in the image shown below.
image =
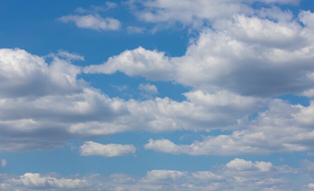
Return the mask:
{"type": "Polygon", "coordinates": [[[139,47],[110,57],[103,64],[88,66],[84,72],[120,71],[152,81],[175,81],[206,92],[229,90],[259,97],[309,95],[314,80],[312,15],[301,12],[294,20],[291,13],[275,8],[251,17],[236,14],[215,20],[212,29],[203,28],[181,57],[139,47]]]}

